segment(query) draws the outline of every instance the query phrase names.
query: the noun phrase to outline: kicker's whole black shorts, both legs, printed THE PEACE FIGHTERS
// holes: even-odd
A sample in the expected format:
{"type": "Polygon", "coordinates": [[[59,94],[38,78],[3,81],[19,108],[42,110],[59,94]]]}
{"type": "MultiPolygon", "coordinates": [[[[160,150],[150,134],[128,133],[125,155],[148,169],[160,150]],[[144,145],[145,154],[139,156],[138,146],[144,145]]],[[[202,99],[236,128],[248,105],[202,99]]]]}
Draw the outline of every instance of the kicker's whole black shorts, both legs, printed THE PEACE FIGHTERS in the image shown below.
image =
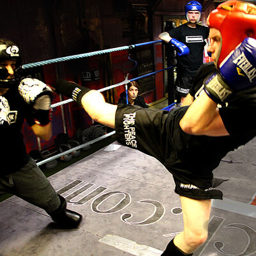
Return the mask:
{"type": "Polygon", "coordinates": [[[168,111],[120,104],[115,117],[116,140],[122,145],[140,150],[160,161],[173,174],[175,193],[196,200],[222,199],[221,191],[213,189],[214,184],[211,179],[205,182],[207,184],[205,188],[198,188],[193,185],[196,184],[196,179],[193,179],[192,175],[190,178],[184,177],[179,171],[169,168],[166,164],[172,148],[172,141],[168,140],[166,131],[168,115],[168,111]]]}

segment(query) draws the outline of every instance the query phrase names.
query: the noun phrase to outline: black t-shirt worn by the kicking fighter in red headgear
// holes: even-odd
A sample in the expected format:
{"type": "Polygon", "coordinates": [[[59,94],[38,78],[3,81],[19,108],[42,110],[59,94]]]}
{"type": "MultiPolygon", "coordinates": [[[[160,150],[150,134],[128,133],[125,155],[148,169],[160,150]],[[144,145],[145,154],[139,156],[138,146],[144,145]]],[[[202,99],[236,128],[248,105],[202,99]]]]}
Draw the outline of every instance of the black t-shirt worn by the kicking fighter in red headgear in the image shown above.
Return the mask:
{"type": "MultiPolygon", "coordinates": [[[[195,78],[198,83],[193,85],[195,92],[202,87],[204,77],[214,70],[216,69],[212,63],[202,65],[200,77],[195,78]]],[[[188,106],[172,109],[167,125],[168,136],[172,141],[167,168],[178,171],[179,176],[184,179],[189,175],[200,179],[211,177],[212,170],[220,164],[221,159],[228,152],[246,144],[256,136],[256,88],[236,93],[227,106],[219,109],[229,136],[196,136],[183,132],[179,122],[187,109],[188,106]]],[[[204,187],[204,184],[198,184],[198,180],[195,184],[204,187]]]]}

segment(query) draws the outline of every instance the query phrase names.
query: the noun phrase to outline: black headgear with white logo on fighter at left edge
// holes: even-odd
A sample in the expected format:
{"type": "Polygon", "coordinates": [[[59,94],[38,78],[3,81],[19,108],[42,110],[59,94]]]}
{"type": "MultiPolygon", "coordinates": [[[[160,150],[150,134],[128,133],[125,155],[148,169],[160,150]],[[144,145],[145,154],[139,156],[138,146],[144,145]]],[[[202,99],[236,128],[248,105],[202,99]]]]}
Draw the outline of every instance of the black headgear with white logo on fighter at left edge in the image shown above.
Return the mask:
{"type": "Polygon", "coordinates": [[[9,88],[15,83],[15,74],[10,76],[5,61],[15,61],[15,68],[21,64],[20,50],[14,42],[0,38],[0,87],[9,88]]]}

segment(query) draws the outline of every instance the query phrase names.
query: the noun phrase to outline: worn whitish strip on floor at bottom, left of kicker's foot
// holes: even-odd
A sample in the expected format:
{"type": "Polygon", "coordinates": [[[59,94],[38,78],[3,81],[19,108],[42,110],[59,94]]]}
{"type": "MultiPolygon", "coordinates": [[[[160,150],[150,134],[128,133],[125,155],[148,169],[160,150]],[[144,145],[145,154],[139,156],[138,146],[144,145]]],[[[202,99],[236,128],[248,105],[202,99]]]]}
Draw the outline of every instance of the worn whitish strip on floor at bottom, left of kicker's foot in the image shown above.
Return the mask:
{"type": "Polygon", "coordinates": [[[107,235],[102,239],[99,239],[99,242],[114,246],[119,250],[129,252],[135,256],[160,256],[163,253],[163,251],[157,250],[156,248],[143,244],[137,244],[134,241],[120,236],[107,235]]]}

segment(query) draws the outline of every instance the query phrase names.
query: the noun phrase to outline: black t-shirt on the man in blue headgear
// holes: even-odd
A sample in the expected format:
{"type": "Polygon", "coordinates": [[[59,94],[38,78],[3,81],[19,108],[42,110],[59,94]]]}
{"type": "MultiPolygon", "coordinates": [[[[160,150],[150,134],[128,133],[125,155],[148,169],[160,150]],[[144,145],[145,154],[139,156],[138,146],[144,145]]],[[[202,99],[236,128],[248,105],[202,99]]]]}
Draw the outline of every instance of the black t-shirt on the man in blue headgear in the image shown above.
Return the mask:
{"type": "Polygon", "coordinates": [[[188,23],[168,31],[172,38],[177,39],[189,48],[189,55],[177,56],[177,73],[179,76],[194,77],[203,64],[205,39],[209,36],[209,28],[196,24],[190,28],[188,23]]]}

